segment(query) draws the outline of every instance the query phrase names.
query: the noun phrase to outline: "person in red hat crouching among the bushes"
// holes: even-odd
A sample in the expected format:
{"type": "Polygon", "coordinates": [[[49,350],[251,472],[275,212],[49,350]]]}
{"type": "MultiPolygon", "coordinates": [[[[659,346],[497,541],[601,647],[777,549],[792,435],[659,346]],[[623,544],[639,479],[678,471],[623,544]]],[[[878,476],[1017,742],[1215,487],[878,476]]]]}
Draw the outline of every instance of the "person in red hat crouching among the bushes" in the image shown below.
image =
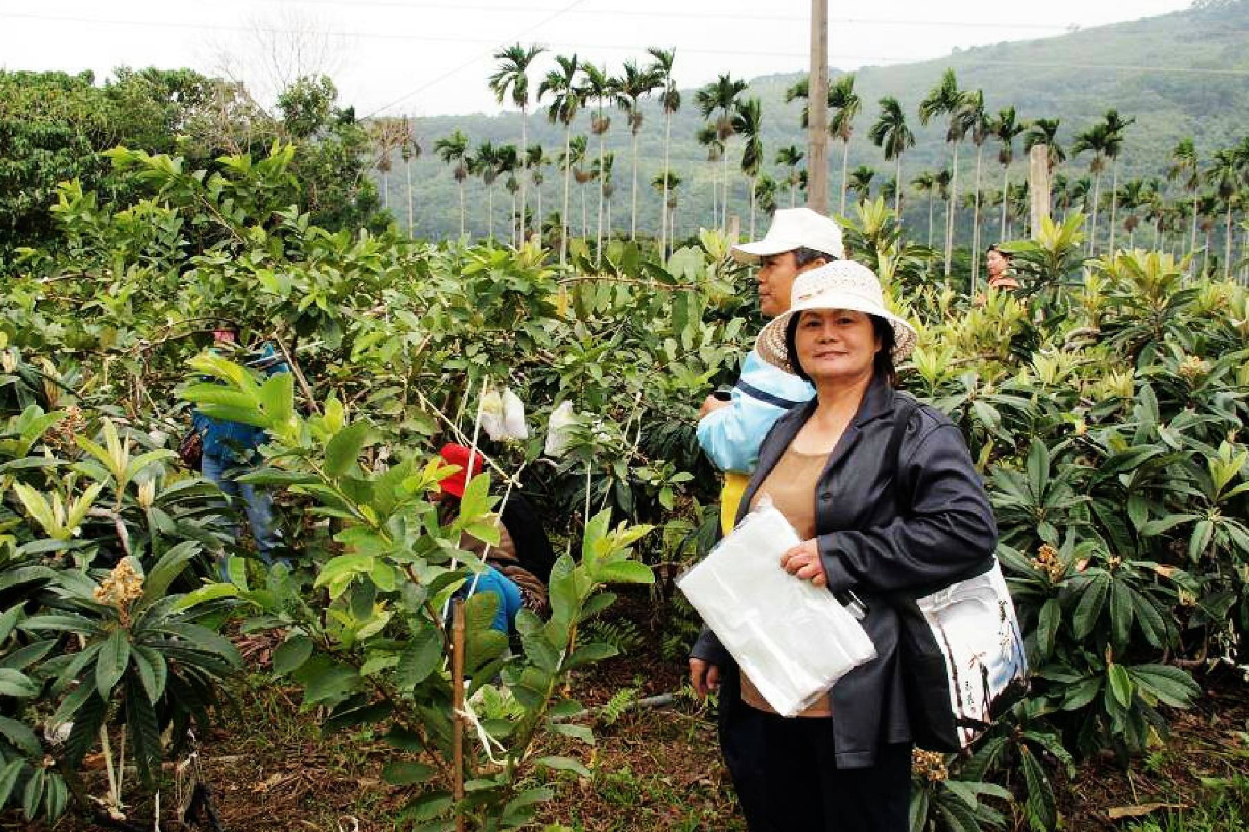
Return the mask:
{"type": "MultiPolygon", "coordinates": [[[[445,444],[438,450],[438,457],[448,465],[460,467],[460,470],[440,484],[443,505],[453,510],[463,499],[468,480],[481,474],[483,458],[480,450],[475,453],[456,443],[445,444]]],[[[477,578],[476,591],[500,594],[500,612],[495,626],[506,632],[521,605],[536,612],[546,609],[547,588],[538,575],[550,574],[555,555],[537,513],[518,493],[513,491],[508,496],[502,516],[495,525],[500,538],[497,545],[487,549],[483,540],[465,533],[460,548],[486,561],[488,570],[477,578]]]]}

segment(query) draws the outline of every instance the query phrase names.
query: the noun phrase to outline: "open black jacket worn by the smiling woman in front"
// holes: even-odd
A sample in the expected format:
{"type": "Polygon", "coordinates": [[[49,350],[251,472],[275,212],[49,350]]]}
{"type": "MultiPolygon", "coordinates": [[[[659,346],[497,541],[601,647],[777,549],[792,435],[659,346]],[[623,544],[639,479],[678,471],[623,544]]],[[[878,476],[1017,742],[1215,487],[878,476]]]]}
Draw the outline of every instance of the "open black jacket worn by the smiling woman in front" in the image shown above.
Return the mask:
{"type": "MultiPolygon", "coordinates": [[[[916,690],[908,680],[911,669],[902,666],[899,656],[899,639],[907,634],[889,596],[923,594],[984,571],[997,548],[993,511],[963,435],[940,412],[907,404],[903,397],[883,378],[872,380],[813,495],[828,589],[853,590],[866,602],[863,627],[877,650],[876,659],[852,670],[832,690],[839,768],[874,765],[881,742],[914,740],[908,711],[916,712],[918,702],[908,706],[908,695],[933,697],[938,706],[948,704],[947,690],[916,690]],[[888,447],[899,408],[911,417],[897,460],[892,460],[888,447]],[[899,505],[908,508],[899,513],[899,505]]],[[[738,520],[816,404],[798,405],[773,425],[759,449],[759,465],[742,496],[738,520]]],[[[747,707],[741,702],[737,666],[706,629],[692,655],[722,670],[721,727],[728,730],[736,712],[747,707]]],[[[944,671],[938,670],[940,677],[944,671]]]]}

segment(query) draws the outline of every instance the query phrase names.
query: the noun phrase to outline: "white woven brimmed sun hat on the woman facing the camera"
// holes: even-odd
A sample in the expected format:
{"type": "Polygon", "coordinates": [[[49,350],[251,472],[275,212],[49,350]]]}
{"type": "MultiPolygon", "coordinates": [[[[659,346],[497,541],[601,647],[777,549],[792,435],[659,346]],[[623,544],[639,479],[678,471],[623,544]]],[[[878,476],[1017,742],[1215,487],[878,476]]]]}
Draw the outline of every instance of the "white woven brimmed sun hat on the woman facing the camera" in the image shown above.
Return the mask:
{"type": "Polygon", "coordinates": [[[754,343],[763,360],[787,373],[794,372],[784,331],[789,319],[806,309],[854,309],[884,318],[893,327],[894,363],[904,360],[916,347],[916,328],[884,308],[884,292],[876,273],[852,259],[838,259],[794,278],[789,311],[769,321],[754,343]]]}

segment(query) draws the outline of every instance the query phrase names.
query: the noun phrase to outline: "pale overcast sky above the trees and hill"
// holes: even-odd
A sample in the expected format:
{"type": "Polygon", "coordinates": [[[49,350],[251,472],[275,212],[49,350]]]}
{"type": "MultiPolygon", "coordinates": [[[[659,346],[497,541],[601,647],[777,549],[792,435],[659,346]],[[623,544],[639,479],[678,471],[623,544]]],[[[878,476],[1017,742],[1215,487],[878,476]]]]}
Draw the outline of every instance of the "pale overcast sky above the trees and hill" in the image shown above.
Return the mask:
{"type": "MultiPolygon", "coordinates": [[[[829,0],[829,64],[939,57],[1004,40],[1177,11],[1190,0],[829,0]]],[[[807,69],[809,0],[0,0],[0,66],[227,70],[265,95],[297,71],[332,75],[360,115],[496,112],[491,52],[521,41],[610,67],[677,49],[683,87],[718,72],[807,69]]],[[[536,90],[537,81],[533,81],[536,90]]]]}

